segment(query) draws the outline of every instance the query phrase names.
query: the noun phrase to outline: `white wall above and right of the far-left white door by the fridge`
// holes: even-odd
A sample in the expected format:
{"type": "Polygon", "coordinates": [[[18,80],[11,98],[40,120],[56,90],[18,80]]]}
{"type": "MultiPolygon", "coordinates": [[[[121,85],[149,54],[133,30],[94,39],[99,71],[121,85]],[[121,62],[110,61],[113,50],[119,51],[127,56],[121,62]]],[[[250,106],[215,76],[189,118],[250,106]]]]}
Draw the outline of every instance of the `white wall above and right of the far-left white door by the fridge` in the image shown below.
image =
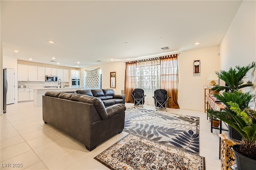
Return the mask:
{"type": "Polygon", "coordinates": [[[3,68],[14,69],[14,85],[15,85],[15,103],[18,102],[18,77],[17,77],[17,59],[15,57],[3,56],[3,68]]]}

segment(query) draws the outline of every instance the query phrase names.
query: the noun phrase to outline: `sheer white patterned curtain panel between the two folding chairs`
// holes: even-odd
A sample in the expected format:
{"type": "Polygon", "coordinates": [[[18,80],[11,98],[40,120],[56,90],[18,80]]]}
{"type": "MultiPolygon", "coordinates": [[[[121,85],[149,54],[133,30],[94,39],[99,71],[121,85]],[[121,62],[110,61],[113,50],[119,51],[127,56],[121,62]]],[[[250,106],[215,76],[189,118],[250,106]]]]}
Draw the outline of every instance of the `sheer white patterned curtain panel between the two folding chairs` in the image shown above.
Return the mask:
{"type": "Polygon", "coordinates": [[[145,104],[154,106],[154,91],[160,88],[160,59],[138,61],[136,64],[136,88],[144,90],[145,104]]]}

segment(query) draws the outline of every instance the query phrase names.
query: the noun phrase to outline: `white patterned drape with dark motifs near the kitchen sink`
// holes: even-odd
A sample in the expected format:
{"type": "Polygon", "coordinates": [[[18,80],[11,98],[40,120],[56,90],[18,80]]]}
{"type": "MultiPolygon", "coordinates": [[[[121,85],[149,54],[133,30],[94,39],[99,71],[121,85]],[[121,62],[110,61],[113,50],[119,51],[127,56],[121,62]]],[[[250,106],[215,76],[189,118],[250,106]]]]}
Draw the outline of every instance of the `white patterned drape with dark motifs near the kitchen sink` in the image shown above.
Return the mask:
{"type": "Polygon", "coordinates": [[[100,68],[84,70],[84,89],[101,89],[100,68]]]}

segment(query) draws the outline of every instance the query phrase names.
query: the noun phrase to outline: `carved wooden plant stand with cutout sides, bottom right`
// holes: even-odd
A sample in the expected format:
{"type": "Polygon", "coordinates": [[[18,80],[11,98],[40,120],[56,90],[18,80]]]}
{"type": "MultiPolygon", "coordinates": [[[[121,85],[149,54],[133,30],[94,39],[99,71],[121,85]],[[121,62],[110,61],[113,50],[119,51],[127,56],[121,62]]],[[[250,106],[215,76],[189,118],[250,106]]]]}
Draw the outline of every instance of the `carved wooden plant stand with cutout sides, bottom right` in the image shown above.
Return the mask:
{"type": "Polygon", "coordinates": [[[234,163],[235,155],[231,149],[233,145],[240,144],[239,141],[231,139],[226,134],[220,134],[220,163],[222,170],[232,170],[230,166],[234,163]],[[229,164],[230,163],[230,164],[229,164]]]}

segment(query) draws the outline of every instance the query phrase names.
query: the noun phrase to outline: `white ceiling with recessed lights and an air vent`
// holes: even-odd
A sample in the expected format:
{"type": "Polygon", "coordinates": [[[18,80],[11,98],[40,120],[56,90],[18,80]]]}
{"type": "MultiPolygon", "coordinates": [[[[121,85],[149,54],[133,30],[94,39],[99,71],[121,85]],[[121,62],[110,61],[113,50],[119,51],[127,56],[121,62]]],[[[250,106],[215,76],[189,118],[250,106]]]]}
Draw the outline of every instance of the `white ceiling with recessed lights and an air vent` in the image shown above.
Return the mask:
{"type": "Polygon", "coordinates": [[[0,3],[3,55],[85,67],[220,45],[241,1],[0,3]]]}

